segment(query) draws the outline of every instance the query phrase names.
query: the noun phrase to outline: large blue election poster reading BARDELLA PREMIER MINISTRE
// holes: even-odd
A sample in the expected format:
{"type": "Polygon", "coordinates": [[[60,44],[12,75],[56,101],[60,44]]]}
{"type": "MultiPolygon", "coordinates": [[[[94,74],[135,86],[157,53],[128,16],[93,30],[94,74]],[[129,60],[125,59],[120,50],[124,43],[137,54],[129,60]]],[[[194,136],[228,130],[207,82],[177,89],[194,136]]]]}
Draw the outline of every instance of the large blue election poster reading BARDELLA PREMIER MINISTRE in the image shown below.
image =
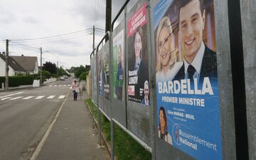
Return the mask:
{"type": "Polygon", "coordinates": [[[159,140],[222,159],[213,0],[160,0],[153,12],[159,140]]]}

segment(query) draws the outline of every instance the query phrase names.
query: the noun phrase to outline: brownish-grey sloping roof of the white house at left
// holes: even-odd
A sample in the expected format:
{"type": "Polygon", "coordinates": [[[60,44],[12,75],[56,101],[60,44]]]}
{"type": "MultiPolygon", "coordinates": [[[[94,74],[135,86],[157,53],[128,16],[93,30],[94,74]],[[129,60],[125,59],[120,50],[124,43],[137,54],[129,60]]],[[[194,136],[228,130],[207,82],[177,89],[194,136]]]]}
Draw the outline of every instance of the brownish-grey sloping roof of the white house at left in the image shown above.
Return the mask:
{"type": "Polygon", "coordinates": [[[33,72],[36,67],[37,63],[37,57],[30,57],[30,56],[10,56],[11,58],[14,58],[16,62],[18,62],[22,68],[24,68],[27,72],[33,72]]]}

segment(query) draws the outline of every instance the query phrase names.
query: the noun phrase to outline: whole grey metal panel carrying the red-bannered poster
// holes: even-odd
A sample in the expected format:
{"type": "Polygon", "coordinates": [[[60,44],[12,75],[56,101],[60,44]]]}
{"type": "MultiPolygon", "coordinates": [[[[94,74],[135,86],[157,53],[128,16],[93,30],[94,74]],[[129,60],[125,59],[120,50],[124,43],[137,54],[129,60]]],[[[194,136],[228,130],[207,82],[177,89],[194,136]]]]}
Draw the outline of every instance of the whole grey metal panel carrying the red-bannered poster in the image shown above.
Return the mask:
{"type": "Polygon", "coordinates": [[[127,129],[151,146],[148,25],[146,1],[138,1],[127,14],[127,129]]]}

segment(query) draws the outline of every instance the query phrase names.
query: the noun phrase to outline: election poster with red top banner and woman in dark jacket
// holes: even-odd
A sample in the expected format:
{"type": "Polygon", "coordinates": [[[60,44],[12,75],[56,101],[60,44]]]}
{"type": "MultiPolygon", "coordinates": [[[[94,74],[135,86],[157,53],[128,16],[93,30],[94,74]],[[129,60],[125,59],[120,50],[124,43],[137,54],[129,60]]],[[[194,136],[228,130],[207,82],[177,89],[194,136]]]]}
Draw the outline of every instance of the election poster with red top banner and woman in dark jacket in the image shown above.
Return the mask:
{"type": "Polygon", "coordinates": [[[146,2],[129,18],[128,38],[128,99],[149,105],[149,68],[146,43],[146,2]]]}

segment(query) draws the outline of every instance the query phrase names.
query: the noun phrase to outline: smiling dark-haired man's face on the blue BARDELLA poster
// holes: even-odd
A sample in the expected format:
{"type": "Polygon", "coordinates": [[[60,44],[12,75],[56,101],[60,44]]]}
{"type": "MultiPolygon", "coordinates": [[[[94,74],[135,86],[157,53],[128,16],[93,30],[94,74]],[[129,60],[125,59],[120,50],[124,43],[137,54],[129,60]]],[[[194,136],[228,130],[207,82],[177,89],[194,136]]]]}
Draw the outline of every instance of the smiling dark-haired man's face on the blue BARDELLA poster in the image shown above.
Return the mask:
{"type": "Polygon", "coordinates": [[[192,0],[181,7],[179,14],[181,46],[185,51],[185,58],[193,60],[203,41],[205,13],[203,11],[203,15],[201,14],[200,1],[192,0]]]}

